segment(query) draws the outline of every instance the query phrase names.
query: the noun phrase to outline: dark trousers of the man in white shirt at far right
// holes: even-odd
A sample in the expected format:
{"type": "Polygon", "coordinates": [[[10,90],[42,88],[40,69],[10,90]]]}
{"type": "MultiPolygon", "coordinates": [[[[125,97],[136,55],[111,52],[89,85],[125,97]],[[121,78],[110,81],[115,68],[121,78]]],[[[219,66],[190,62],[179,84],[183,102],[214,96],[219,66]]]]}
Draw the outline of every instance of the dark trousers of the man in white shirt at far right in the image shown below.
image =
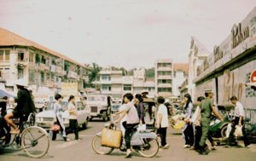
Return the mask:
{"type": "MultiPolygon", "coordinates": [[[[228,142],[227,144],[230,146],[231,145],[231,142],[234,141],[234,133],[235,133],[235,130],[236,130],[236,125],[239,124],[239,117],[236,117],[235,120],[232,121],[232,129],[230,131],[230,136],[228,138],[228,142]]],[[[243,120],[241,120],[241,124],[242,124],[242,128],[241,128],[241,132],[242,132],[242,139],[243,139],[243,143],[244,143],[244,146],[247,147],[248,145],[250,145],[250,141],[248,140],[247,138],[247,134],[245,132],[245,128],[244,128],[244,125],[243,125],[243,120]]]]}

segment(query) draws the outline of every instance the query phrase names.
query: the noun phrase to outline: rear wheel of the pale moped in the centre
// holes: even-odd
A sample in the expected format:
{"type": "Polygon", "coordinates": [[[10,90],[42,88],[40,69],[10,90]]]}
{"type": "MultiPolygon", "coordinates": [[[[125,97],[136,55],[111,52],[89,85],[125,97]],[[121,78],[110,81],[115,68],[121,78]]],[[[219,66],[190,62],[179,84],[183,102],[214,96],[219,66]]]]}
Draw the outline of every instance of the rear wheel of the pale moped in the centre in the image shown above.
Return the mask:
{"type": "Polygon", "coordinates": [[[158,141],[156,139],[149,139],[145,144],[146,145],[138,149],[137,152],[145,158],[154,157],[159,151],[158,141]]]}

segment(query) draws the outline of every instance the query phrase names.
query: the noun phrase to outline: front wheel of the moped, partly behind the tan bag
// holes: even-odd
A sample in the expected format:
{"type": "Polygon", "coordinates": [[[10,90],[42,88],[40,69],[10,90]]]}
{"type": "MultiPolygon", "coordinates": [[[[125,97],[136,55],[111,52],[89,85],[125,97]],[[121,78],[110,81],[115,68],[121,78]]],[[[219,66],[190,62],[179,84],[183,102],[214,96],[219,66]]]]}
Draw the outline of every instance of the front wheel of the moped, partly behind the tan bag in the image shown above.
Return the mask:
{"type": "Polygon", "coordinates": [[[96,135],[91,143],[92,149],[98,153],[98,154],[102,154],[102,155],[107,155],[110,152],[113,151],[113,147],[103,147],[102,146],[102,137],[96,135]]]}

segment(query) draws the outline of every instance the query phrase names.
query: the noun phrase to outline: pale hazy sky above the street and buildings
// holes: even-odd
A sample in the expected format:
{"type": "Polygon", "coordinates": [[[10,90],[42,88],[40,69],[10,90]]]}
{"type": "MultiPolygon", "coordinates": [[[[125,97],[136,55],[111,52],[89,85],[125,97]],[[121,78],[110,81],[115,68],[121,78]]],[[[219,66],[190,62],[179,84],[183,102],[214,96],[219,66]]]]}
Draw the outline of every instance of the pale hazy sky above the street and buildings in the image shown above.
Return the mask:
{"type": "Polygon", "coordinates": [[[255,0],[0,0],[0,27],[80,63],[187,63],[191,37],[210,52],[255,0]]]}

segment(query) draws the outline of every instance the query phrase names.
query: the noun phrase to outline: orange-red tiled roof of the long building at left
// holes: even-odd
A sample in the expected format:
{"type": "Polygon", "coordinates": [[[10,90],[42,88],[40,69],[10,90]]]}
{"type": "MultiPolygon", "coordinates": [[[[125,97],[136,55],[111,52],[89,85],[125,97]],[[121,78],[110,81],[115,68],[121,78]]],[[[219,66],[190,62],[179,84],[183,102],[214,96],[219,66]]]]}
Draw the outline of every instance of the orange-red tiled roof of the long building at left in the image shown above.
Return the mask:
{"type": "MultiPolygon", "coordinates": [[[[48,49],[46,47],[44,47],[43,45],[40,45],[38,43],[32,42],[31,40],[28,40],[24,37],[20,37],[19,35],[16,35],[13,32],[9,32],[8,30],[5,30],[3,28],[0,27],[0,46],[27,46],[27,47],[34,47],[36,49],[41,49],[51,55],[55,55],[57,57],[62,58],[63,60],[68,60],[74,64],[77,64],[79,66],[83,66],[84,65],[80,64],[79,62],[70,59],[69,57],[67,57],[66,55],[61,55],[60,53],[48,49]]],[[[88,67],[87,67],[88,68],[88,67]]]]}

